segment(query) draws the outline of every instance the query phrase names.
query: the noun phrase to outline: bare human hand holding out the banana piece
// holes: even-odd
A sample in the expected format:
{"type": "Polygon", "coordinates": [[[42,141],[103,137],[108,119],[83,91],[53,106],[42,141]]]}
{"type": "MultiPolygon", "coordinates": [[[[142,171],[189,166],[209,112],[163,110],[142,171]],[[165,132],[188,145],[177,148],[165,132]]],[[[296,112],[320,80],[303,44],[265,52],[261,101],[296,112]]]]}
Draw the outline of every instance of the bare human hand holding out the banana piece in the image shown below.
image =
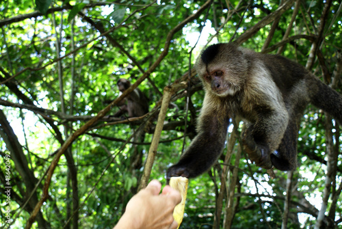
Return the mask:
{"type": "Polygon", "coordinates": [[[161,190],[161,183],[152,180],[129,200],[126,211],[114,229],[175,229],[178,227],[172,216],[174,207],[182,200],[179,191],[169,185],[161,190]]]}

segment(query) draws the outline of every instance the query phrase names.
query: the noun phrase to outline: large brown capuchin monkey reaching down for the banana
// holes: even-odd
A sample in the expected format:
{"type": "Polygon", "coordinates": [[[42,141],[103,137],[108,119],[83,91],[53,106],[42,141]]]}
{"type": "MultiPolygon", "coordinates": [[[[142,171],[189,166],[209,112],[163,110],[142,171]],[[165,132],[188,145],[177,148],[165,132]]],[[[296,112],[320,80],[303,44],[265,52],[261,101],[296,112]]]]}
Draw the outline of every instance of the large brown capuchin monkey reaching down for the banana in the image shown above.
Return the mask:
{"type": "Polygon", "coordinates": [[[229,118],[248,122],[243,146],[258,166],[294,170],[300,118],[308,103],[342,124],[342,96],[306,68],[280,55],[234,44],[213,44],[195,65],[205,89],[197,132],[167,178],[194,178],[209,170],[226,141],[229,118]]]}

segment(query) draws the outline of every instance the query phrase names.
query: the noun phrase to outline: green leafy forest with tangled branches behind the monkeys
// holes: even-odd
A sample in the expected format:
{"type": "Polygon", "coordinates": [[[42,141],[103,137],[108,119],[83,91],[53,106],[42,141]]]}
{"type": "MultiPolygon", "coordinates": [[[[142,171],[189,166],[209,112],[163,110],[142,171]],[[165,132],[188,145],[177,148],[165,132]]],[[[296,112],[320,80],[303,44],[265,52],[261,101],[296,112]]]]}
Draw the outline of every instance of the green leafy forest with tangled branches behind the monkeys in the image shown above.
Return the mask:
{"type": "MultiPolygon", "coordinates": [[[[3,1],[1,228],[113,228],[148,180],[166,185],[196,135],[205,92],[194,62],[209,44],[285,56],[342,94],[341,10],[332,0],[3,1]],[[119,79],[131,86],[120,92],[119,79]],[[148,112],[116,116],[137,89],[148,112]]],[[[341,126],[307,107],[297,170],[271,175],[241,148],[244,128],[233,117],[217,163],[189,180],[181,228],[340,228],[341,126]]]]}

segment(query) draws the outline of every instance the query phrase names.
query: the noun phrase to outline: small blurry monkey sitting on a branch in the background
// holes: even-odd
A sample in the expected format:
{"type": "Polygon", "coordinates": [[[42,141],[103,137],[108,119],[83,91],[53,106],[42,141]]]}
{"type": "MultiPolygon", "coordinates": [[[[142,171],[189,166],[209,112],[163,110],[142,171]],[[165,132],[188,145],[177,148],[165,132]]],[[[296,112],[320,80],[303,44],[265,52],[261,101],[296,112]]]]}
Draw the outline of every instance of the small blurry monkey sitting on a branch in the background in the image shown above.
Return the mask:
{"type": "MultiPolygon", "coordinates": [[[[124,92],[131,87],[131,82],[128,79],[119,79],[117,85],[118,90],[124,92]]],[[[120,117],[124,113],[128,113],[128,117],[132,118],[144,116],[144,114],[148,113],[148,99],[138,88],[128,94],[119,105],[120,110],[111,117],[120,117]]]]}

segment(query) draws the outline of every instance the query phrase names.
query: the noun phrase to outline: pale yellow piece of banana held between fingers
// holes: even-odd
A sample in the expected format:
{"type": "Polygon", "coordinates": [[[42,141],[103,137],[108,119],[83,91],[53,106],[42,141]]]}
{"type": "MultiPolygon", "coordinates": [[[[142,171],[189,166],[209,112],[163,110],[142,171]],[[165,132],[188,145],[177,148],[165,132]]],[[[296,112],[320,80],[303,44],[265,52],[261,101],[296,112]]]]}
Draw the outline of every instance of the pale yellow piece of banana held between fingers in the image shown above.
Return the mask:
{"type": "MultiPolygon", "coordinates": [[[[182,201],[176,205],[173,211],[173,218],[179,226],[181,226],[181,222],[183,220],[184,215],[184,208],[185,208],[185,200],[187,199],[187,184],[189,183],[189,180],[186,177],[183,176],[174,176],[170,178],[170,186],[173,189],[176,189],[181,193],[182,201]]],[[[177,228],[177,229],[178,229],[177,228]]]]}

